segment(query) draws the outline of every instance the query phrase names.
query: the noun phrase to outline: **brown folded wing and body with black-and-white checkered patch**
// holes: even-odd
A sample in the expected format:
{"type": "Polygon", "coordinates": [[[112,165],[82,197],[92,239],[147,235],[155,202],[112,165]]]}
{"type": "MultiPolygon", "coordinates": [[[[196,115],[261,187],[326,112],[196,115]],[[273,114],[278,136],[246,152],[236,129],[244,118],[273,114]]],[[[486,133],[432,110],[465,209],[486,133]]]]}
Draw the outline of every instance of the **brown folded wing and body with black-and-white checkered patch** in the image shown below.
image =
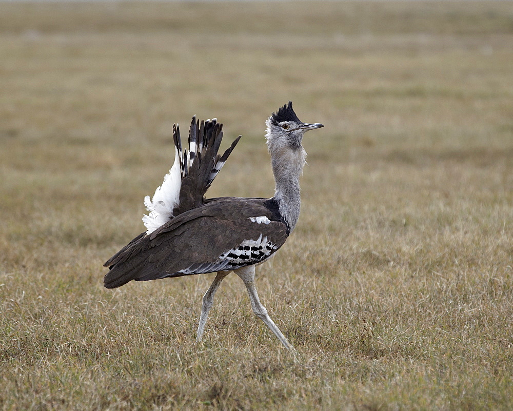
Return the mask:
{"type": "Polygon", "coordinates": [[[270,258],[289,230],[274,200],[223,198],[186,211],[140,234],[105,263],[107,288],[214,271],[270,258]]]}

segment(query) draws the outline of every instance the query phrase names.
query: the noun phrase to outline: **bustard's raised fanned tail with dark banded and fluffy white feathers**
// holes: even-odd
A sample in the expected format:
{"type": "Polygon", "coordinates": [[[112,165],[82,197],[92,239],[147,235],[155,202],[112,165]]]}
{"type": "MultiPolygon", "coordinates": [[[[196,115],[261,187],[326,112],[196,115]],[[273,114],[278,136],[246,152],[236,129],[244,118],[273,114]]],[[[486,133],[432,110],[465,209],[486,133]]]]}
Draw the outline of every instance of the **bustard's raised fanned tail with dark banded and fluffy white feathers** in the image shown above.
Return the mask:
{"type": "Polygon", "coordinates": [[[184,211],[205,203],[205,193],[225,164],[241,135],[223,153],[218,154],[223,139],[223,124],[217,119],[196,120],[189,128],[188,150],[182,149],[180,127],[173,125],[174,163],[153,197],[147,195],[144,205],[149,214],[143,216],[146,234],[184,211]]]}

